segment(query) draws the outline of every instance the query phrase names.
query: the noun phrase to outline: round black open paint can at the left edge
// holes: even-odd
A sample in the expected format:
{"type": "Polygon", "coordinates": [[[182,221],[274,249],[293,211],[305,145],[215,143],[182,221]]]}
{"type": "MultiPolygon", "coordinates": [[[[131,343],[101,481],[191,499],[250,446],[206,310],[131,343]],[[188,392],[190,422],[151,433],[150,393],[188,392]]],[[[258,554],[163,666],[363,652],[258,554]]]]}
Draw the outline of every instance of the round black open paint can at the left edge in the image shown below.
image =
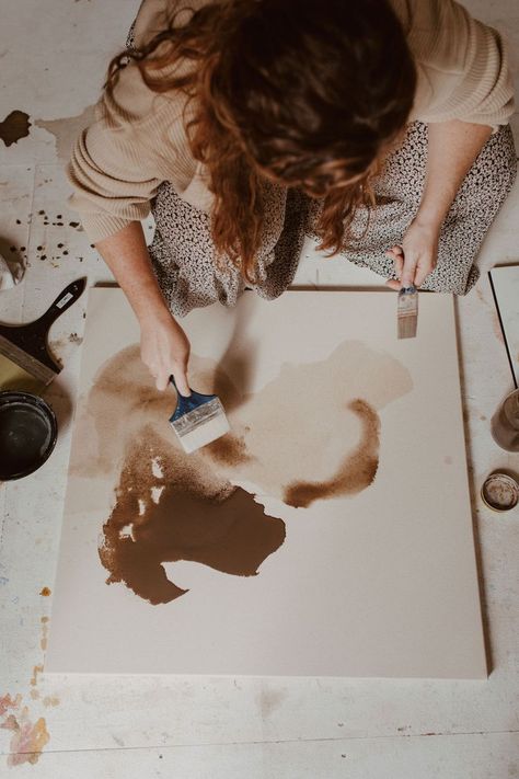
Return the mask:
{"type": "Polygon", "coordinates": [[[0,481],[22,479],[50,457],[58,437],[53,409],[30,392],[0,392],[0,481]]]}

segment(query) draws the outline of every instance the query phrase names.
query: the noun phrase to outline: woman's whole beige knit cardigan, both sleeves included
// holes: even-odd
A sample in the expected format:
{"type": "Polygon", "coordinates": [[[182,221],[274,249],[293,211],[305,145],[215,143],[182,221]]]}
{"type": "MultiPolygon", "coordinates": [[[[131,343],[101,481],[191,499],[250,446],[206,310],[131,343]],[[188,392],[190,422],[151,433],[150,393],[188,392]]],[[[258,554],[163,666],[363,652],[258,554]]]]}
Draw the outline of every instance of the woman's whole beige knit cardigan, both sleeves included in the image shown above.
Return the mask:
{"type": "MultiPolygon", "coordinates": [[[[188,0],[196,8],[210,0],[188,0]]],[[[499,34],[453,0],[390,0],[407,32],[418,84],[410,122],[462,119],[493,127],[514,113],[508,55],[499,34]]],[[[183,0],[185,2],[185,0],[183,0]]],[[[178,0],[143,0],[136,43],[165,25],[178,0]]],[[[92,242],[145,219],[164,181],[187,203],[210,211],[203,165],[193,158],[182,94],[159,95],[135,64],[120,73],[111,100],[103,94],[95,122],[77,140],[68,167],[70,206],[92,242]]]]}

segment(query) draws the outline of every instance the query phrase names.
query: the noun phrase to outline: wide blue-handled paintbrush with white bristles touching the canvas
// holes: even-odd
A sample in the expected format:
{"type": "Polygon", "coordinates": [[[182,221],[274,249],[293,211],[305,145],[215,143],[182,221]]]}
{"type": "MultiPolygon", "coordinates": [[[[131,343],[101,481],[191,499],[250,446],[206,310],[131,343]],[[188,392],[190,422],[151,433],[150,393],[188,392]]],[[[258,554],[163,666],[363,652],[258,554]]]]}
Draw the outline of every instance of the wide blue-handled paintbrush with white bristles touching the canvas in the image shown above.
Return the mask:
{"type": "Polygon", "coordinates": [[[191,394],[183,396],[173,376],[170,376],[170,381],[176,390],[176,409],[170,417],[170,424],[184,451],[189,455],[229,433],[229,422],[218,396],[201,394],[191,388],[191,394]]]}

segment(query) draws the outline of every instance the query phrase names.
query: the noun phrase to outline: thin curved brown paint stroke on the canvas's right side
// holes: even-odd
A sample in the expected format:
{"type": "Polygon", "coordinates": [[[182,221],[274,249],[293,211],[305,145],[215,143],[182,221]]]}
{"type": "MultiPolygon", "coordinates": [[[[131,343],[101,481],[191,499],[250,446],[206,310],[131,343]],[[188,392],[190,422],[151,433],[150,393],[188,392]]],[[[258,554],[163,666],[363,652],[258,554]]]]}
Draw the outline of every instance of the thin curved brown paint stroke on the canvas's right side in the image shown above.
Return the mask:
{"type": "Polygon", "coordinates": [[[314,501],[355,495],[373,482],[379,467],[380,417],[365,400],[354,400],[347,408],[360,420],[361,433],[357,447],[347,455],[331,479],[289,484],[284,495],[284,501],[289,506],[307,508],[314,501]]]}

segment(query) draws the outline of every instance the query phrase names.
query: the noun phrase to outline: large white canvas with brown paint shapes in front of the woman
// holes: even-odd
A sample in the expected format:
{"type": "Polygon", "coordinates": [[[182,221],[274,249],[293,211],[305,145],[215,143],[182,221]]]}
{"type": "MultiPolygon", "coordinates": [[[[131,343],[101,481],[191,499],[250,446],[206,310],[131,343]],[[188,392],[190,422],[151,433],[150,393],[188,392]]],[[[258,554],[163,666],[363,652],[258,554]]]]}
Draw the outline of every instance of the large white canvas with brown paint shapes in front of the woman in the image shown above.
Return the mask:
{"type": "Polygon", "coordinates": [[[183,454],[92,289],[46,672],[484,678],[453,302],[245,294],[183,320],[232,432],[183,454]]]}

